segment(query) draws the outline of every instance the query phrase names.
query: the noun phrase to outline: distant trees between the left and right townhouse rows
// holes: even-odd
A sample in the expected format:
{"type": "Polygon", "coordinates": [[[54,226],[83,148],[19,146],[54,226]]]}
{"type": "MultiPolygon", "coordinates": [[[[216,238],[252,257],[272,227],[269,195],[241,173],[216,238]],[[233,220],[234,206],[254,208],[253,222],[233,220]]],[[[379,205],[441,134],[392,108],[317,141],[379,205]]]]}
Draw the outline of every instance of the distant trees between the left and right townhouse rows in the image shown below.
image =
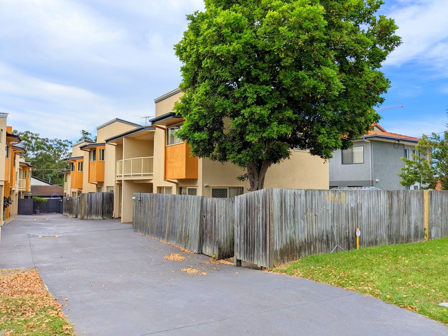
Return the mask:
{"type": "Polygon", "coordinates": [[[69,168],[69,164],[63,159],[71,155],[72,142],[58,138],[43,138],[39,133],[30,131],[14,130],[13,132],[22,138],[19,144],[25,149],[22,156],[36,167],[33,176],[62,185],[64,176],[60,170],[69,168]]]}

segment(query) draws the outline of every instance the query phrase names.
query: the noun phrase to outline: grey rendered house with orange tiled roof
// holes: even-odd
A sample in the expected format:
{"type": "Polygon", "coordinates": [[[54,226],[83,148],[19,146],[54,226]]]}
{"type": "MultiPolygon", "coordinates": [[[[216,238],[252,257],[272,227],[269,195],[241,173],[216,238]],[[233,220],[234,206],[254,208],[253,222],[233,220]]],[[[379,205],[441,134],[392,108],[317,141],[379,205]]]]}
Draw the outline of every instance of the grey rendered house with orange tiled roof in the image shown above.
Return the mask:
{"type": "MultiPolygon", "coordinates": [[[[330,159],[330,188],[375,187],[380,190],[405,190],[396,174],[404,167],[402,157],[417,154],[418,138],[387,132],[378,124],[353,147],[338,150],[330,159]]],[[[410,189],[420,189],[413,185],[410,189]]]]}

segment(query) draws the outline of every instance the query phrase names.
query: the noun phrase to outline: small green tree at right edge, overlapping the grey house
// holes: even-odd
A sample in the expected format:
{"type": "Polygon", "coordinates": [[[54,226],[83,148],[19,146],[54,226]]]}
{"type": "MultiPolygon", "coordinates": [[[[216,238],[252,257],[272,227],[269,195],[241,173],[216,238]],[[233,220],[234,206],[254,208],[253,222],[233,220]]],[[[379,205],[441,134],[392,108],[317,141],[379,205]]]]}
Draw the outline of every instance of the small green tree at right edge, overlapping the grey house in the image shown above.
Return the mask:
{"type": "Polygon", "coordinates": [[[405,163],[397,174],[401,185],[421,183],[422,189],[435,189],[439,182],[443,190],[448,190],[448,131],[424,134],[415,148],[418,154],[412,153],[412,159],[401,158],[405,163]]]}

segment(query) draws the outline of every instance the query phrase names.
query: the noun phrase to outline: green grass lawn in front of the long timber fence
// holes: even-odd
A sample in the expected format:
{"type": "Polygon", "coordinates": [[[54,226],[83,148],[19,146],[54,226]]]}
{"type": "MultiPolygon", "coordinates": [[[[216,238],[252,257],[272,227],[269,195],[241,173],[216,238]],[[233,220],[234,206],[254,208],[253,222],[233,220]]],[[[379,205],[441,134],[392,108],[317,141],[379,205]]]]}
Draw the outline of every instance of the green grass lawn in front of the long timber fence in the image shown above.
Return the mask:
{"type": "Polygon", "coordinates": [[[308,256],[271,271],[379,297],[448,325],[448,238],[308,256]]]}

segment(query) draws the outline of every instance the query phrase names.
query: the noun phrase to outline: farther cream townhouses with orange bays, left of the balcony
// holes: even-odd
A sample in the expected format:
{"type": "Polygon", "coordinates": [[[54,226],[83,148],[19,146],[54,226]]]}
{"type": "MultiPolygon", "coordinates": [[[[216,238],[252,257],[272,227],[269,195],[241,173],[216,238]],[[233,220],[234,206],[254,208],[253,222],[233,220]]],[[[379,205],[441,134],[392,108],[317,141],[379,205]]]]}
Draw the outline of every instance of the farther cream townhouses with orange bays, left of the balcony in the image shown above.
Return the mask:
{"type": "Polygon", "coordinates": [[[96,128],[97,141],[83,140],[72,146],[69,170],[64,170],[64,194],[76,197],[80,193],[114,191],[115,146],[105,139],[140,127],[140,125],[115,118],[96,128]],[[70,186],[70,187],[69,187],[70,186]]]}

